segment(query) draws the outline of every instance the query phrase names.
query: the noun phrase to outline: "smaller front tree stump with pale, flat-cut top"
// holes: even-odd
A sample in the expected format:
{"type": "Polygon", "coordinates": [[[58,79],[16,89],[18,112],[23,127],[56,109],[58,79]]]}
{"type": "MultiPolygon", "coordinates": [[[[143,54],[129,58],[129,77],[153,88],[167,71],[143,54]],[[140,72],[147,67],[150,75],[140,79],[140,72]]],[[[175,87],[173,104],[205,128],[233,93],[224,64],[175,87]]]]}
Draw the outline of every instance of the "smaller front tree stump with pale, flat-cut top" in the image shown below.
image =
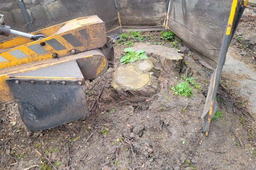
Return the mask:
{"type": "Polygon", "coordinates": [[[143,101],[158,92],[160,69],[159,62],[153,58],[120,65],[113,76],[113,89],[120,99],[143,101]]]}

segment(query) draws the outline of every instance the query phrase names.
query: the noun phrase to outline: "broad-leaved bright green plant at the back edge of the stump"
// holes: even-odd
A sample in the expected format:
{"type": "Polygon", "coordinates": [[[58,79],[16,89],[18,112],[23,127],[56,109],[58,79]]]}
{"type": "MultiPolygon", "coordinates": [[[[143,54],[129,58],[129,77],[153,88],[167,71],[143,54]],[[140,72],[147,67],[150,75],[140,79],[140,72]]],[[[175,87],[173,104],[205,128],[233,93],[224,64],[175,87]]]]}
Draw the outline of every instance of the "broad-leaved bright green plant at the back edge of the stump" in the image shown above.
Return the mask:
{"type": "Polygon", "coordinates": [[[128,62],[135,62],[138,59],[148,59],[145,54],[145,50],[134,51],[132,48],[125,48],[124,52],[126,52],[125,56],[120,59],[122,64],[126,64],[128,62]]]}

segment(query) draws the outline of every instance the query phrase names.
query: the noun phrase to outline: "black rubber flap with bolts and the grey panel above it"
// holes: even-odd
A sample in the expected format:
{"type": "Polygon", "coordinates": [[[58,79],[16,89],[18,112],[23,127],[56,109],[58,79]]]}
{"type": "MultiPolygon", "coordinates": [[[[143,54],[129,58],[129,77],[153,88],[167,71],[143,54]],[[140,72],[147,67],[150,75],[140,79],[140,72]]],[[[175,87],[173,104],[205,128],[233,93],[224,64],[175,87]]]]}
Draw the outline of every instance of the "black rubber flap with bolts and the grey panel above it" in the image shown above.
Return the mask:
{"type": "Polygon", "coordinates": [[[75,61],[12,76],[6,81],[29,130],[48,129],[88,116],[85,85],[75,61]]]}

